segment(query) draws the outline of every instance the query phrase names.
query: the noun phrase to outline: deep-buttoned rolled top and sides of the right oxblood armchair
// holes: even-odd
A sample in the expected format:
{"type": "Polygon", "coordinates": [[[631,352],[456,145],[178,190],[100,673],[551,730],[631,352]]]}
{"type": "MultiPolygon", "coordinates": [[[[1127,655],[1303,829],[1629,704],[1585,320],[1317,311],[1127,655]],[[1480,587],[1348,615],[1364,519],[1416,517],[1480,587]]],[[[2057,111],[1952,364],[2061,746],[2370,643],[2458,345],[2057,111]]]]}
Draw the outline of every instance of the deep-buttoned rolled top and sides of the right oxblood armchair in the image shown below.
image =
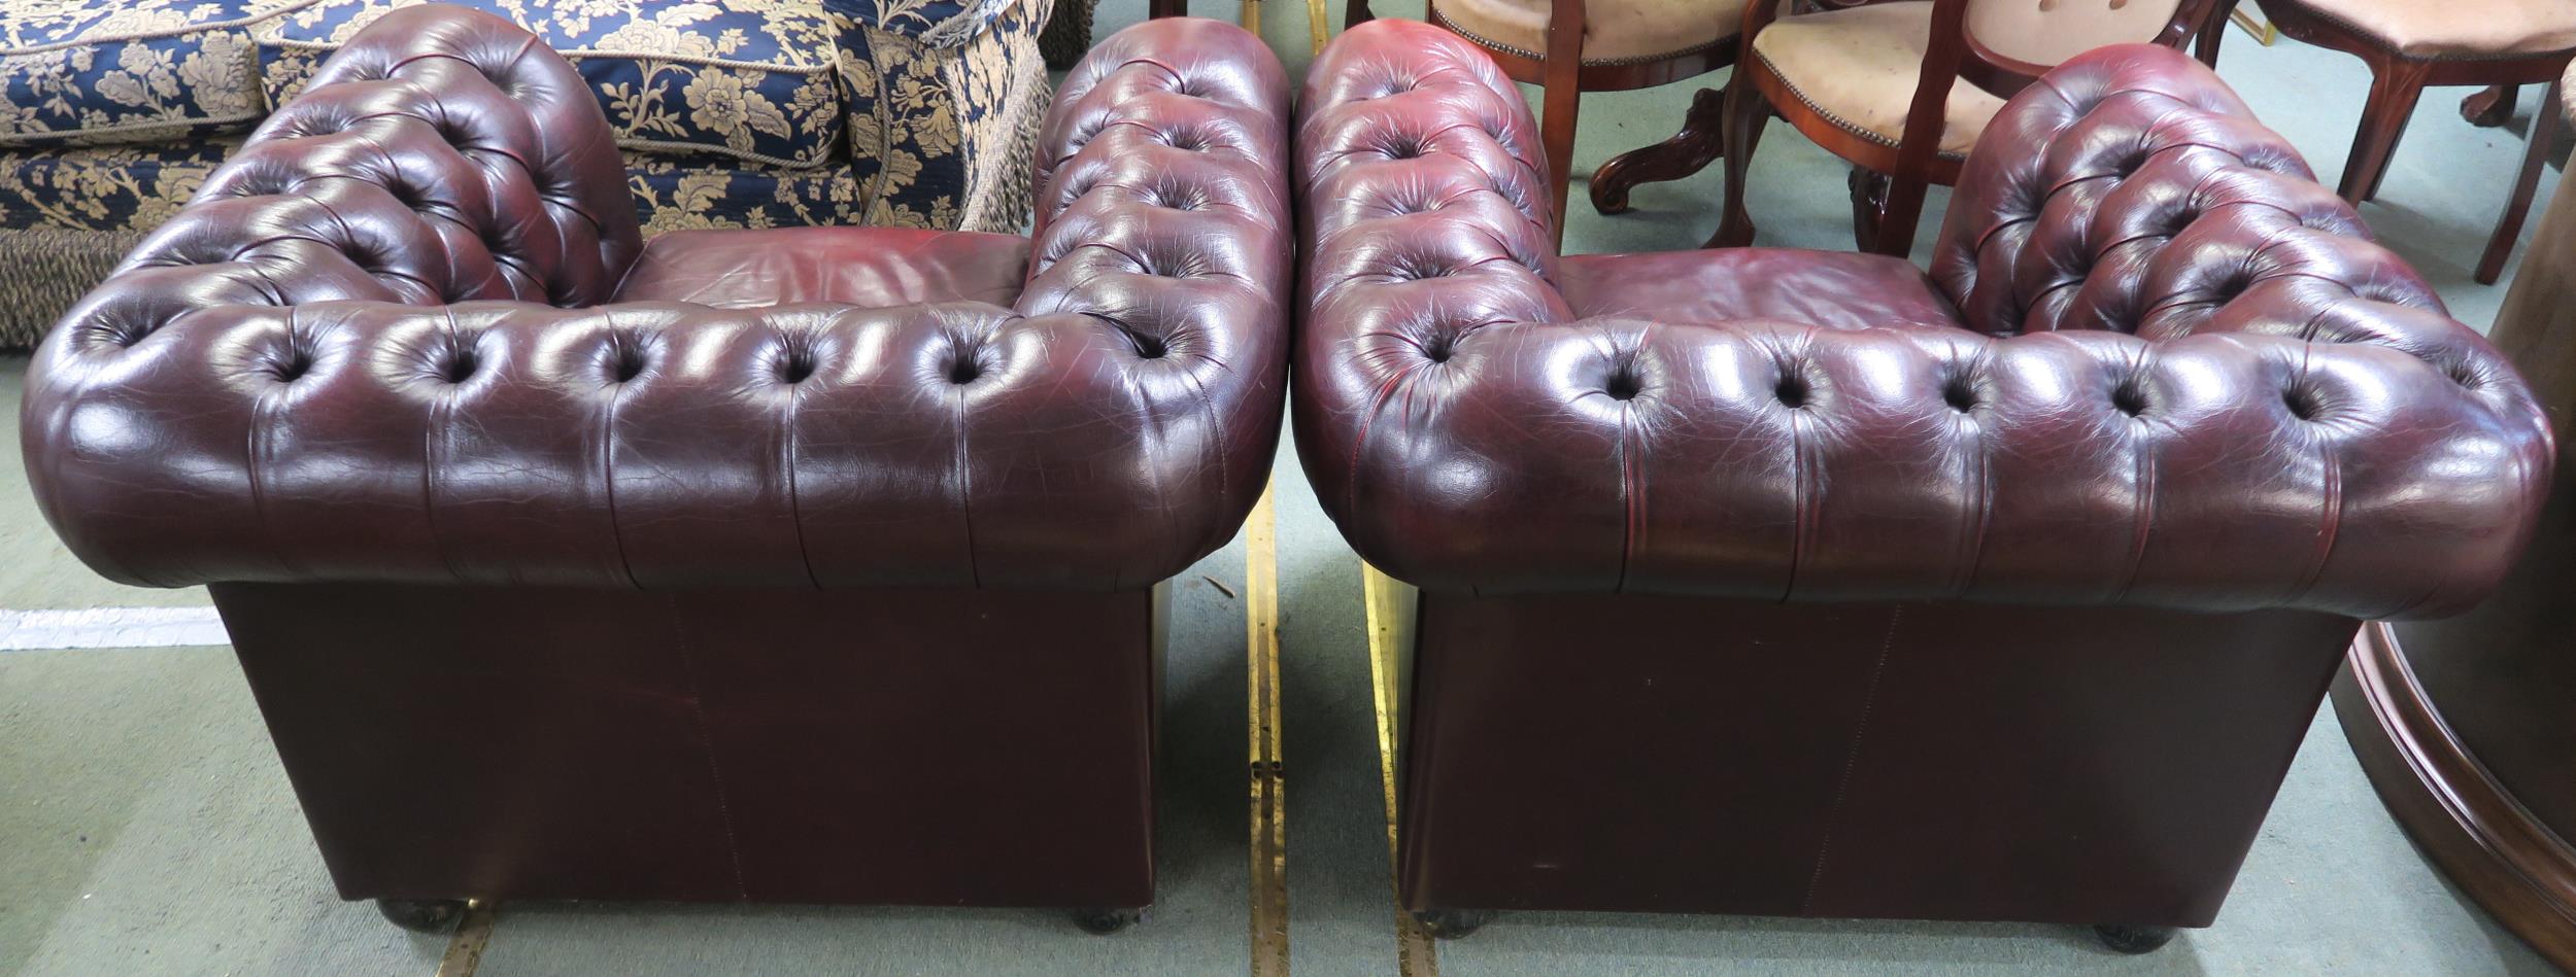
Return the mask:
{"type": "Polygon", "coordinates": [[[2035,175],[1991,198],[2040,229],[1981,231],[2087,252],[2048,267],[2097,260],[2002,278],[2094,329],[1842,332],[1571,321],[1520,95],[1440,31],[1350,31],[1298,144],[1296,419],[1327,512],[1388,573],[1479,594],[2476,602],[2550,478],[2537,406],[2215,77],[2164,54],[2087,57],[2017,98],[1953,211],[1978,226],[2002,213],[1986,170],[2035,175]]]}

